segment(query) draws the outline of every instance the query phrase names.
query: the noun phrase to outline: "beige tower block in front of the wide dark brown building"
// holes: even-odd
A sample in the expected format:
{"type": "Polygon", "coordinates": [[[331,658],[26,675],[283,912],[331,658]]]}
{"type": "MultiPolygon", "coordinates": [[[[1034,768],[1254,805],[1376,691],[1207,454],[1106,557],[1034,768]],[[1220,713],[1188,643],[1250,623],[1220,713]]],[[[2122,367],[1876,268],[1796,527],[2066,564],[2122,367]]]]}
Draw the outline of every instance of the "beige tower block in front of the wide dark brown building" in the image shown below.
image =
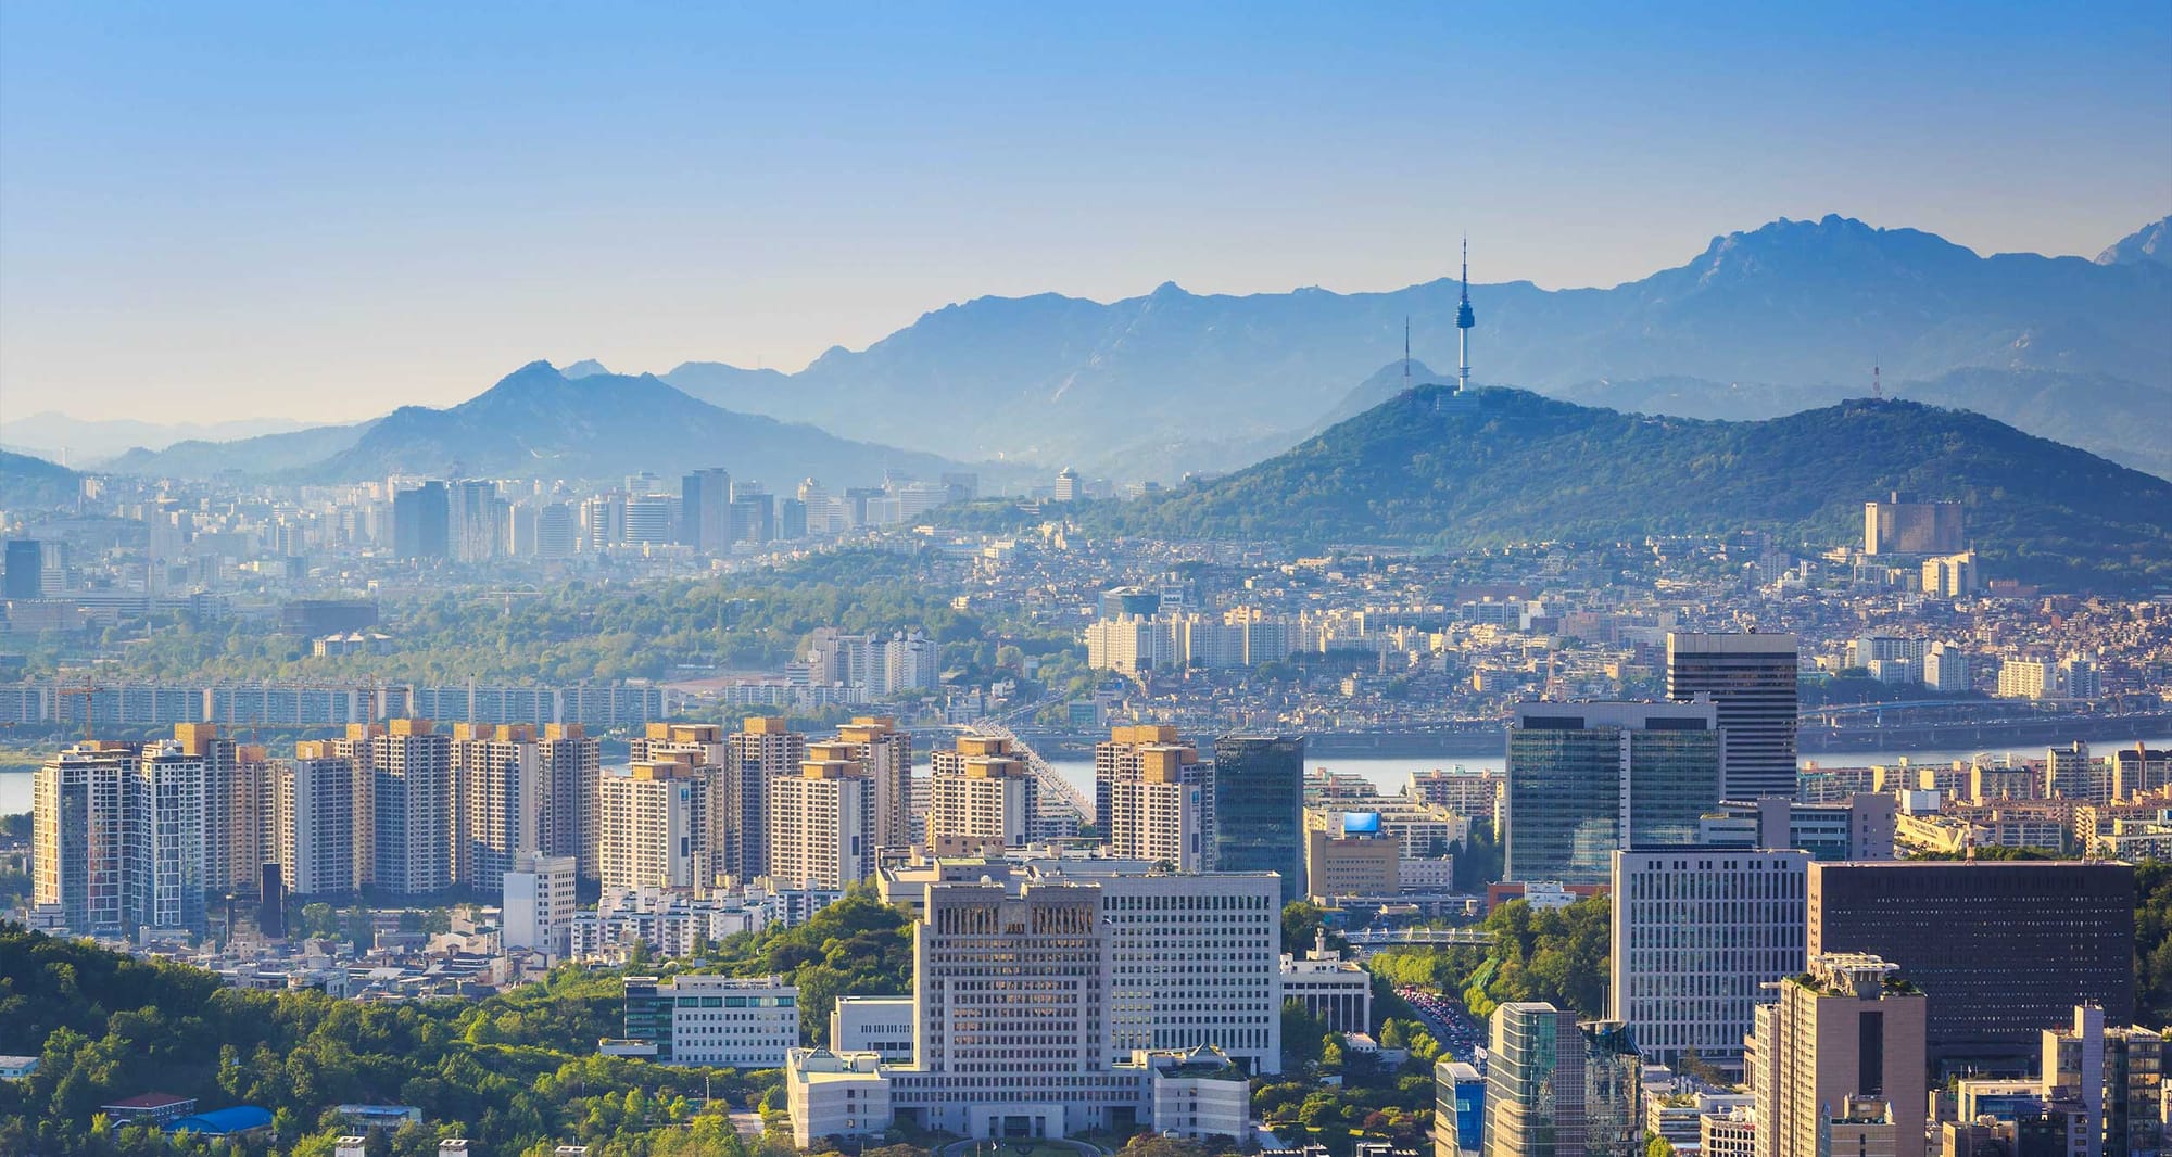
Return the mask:
{"type": "Polygon", "coordinates": [[[1896,972],[1877,955],[1820,953],[1757,1007],[1746,1070],[1759,1157],[1924,1157],[1929,1001],[1896,972]]]}

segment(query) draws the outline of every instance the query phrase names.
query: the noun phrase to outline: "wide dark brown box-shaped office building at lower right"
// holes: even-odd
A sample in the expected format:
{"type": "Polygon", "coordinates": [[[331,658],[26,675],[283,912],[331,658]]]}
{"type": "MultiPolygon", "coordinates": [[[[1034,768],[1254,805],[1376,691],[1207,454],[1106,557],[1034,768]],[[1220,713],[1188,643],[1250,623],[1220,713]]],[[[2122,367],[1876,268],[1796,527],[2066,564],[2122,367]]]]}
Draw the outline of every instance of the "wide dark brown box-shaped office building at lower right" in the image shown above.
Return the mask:
{"type": "Polygon", "coordinates": [[[2135,868],[1903,860],[1809,866],[1809,955],[1872,953],[1931,999],[1940,1064],[2026,1064],[2037,1031],[2096,1003],[2135,1014],[2135,868]]]}

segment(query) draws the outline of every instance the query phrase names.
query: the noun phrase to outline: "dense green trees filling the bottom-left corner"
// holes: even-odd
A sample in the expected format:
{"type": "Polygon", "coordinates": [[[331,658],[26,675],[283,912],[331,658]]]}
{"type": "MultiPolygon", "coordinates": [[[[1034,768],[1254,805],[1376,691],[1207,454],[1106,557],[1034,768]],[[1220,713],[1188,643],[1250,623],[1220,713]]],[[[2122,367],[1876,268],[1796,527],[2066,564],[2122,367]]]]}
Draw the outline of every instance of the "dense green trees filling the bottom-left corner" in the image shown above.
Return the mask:
{"type": "Polygon", "coordinates": [[[717,1120],[775,1085],[775,1072],[595,1055],[621,1022],[617,977],[578,968],[480,1003],[365,1005],[222,988],[193,968],[0,925],[0,1053],[39,1055],[33,1079],[0,1081],[0,1153],[172,1153],[159,1135],[93,1120],[98,1105],[146,1090],[206,1109],[263,1105],[295,1153],[328,1153],[319,1137],[345,1131],[326,1116],[339,1103],[424,1109],[428,1127],[387,1153],[434,1155],[441,1127],[484,1153],[569,1142],[647,1153],[658,1131],[704,1116],[704,1077],[717,1120]]]}

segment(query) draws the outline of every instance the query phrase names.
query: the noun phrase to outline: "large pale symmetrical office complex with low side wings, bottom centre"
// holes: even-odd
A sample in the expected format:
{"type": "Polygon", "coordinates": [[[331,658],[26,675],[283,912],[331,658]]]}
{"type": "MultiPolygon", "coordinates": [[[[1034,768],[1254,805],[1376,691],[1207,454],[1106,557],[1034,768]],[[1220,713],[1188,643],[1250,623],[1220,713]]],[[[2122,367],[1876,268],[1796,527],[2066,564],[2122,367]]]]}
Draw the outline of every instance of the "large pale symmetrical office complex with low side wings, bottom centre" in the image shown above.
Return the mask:
{"type": "Polygon", "coordinates": [[[912,992],[838,1003],[830,1044],[788,1053],[799,1146],[893,1124],[1242,1142],[1249,1077],[1281,1072],[1284,999],[1371,1018],[1362,968],[1279,951],[1275,873],[1012,849],[912,857],[880,888],[912,914],[912,992]]]}

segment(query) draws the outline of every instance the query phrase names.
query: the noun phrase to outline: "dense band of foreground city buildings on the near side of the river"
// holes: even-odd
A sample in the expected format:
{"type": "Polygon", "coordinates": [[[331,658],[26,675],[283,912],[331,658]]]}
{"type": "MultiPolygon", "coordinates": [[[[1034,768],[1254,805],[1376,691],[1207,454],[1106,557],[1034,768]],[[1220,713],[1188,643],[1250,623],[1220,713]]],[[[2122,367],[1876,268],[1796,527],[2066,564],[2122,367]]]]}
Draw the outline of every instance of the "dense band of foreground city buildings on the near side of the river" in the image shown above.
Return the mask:
{"type": "MultiPolygon", "coordinates": [[[[828,634],[815,653],[873,671],[891,645],[912,653],[828,634]]],[[[778,716],[652,723],[615,766],[580,725],[393,719],[269,758],[180,723],[172,740],[70,745],[37,773],[33,920],[165,940],[250,888],[267,912],[285,892],[502,897],[500,925],[419,970],[328,964],[328,988],[428,994],[558,959],[695,955],[873,883],[912,918],[912,972],[841,1001],[823,1046],[804,1046],[784,977],[658,975],[628,979],[623,1035],[602,1048],[782,1066],[801,1146],[893,1127],[1245,1142],[1249,1081],[1284,1064],[1284,1001],[1373,1027],[1358,964],[1325,942],[1281,951],[1284,905],[1475,903],[1455,849],[1490,825],[1503,892],[1612,897],[1607,1005],[1586,1022],[1501,1005],[1483,1066],[1436,1068],[1440,1157],[1618,1155],[1653,1133],[1716,1157],[1977,1157],[2046,1137],[2157,1153],[2161,1038],[2133,1027],[2122,857],[2172,844],[2172,753],[1801,766],[1794,636],[1659,645],[1662,695],[1523,701],[1503,773],[1416,773],[1394,797],[1305,775],[1299,736],[1197,742],[1169,723],[1114,725],[1090,801],[995,727],[917,777],[888,716],[828,738],[778,716]],[[2053,857],[1972,855],[2000,842],[2053,857]],[[2092,857],[2059,857],[2074,851],[2092,857]],[[584,879],[604,890],[593,910],[573,901],[584,879]],[[1657,1066],[1740,1092],[1653,1096],[1657,1066]]],[[[1907,658],[1874,638],[1864,656],[1907,658]]]]}

